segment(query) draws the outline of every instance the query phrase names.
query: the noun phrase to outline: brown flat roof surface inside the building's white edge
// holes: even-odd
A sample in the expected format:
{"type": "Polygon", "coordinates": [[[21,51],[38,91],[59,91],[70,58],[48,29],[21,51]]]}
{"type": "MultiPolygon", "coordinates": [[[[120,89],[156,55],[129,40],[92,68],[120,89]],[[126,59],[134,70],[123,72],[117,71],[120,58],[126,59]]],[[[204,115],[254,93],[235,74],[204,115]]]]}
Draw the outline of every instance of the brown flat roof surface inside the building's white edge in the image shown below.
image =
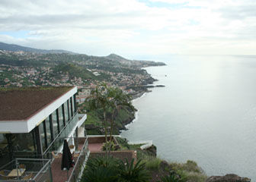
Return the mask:
{"type": "Polygon", "coordinates": [[[0,121],[27,120],[74,87],[0,88],[0,121]]]}

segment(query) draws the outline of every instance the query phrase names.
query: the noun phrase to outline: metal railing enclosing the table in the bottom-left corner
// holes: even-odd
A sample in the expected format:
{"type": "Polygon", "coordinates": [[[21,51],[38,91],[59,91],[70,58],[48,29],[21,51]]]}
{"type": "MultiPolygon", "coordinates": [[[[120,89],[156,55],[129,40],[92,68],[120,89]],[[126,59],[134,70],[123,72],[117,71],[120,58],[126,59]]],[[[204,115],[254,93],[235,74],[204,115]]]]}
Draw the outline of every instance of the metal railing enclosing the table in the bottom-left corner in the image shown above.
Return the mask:
{"type": "Polygon", "coordinates": [[[40,182],[53,181],[50,160],[38,158],[15,158],[0,168],[5,175],[0,178],[3,182],[40,182]],[[10,176],[11,172],[13,174],[10,176]],[[17,173],[17,174],[16,174],[17,173]]]}

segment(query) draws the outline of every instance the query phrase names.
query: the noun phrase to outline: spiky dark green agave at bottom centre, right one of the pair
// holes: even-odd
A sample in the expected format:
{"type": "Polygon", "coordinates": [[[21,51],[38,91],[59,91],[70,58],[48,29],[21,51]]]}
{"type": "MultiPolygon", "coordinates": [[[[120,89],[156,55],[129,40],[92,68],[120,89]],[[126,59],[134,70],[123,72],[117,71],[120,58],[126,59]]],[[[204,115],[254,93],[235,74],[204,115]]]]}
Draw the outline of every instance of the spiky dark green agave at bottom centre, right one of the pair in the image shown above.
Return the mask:
{"type": "Polygon", "coordinates": [[[134,159],[129,163],[121,161],[119,165],[119,181],[122,182],[146,182],[149,181],[149,174],[146,171],[145,163],[141,160],[134,165],[134,159]]]}

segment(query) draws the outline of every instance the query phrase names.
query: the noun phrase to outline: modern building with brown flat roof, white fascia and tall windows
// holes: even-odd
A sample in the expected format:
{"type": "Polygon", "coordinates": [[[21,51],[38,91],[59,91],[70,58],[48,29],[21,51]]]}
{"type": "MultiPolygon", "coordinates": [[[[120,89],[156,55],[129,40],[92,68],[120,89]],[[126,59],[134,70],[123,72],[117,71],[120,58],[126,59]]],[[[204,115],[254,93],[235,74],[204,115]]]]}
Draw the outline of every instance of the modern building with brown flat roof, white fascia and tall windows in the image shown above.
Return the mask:
{"type": "Polygon", "coordinates": [[[50,158],[63,140],[85,137],[76,86],[0,89],[0,166],[14,158],[50,158]]]}

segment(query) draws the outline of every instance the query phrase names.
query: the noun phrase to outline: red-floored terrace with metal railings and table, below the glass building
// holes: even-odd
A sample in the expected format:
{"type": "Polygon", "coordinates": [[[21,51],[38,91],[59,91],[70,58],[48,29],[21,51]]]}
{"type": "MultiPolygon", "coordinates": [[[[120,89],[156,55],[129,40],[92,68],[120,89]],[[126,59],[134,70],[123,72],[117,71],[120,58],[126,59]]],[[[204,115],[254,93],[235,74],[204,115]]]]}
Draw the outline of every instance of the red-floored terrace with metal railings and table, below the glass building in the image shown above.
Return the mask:
{"type": "MultiPolygon", "coordinates": [[[[59,138],[58,143],[68,140],[69,148],[75,160],[75,165],[69,171],[61,170],[62,153],[52,148],[37,158],[16,158],[0,168],[0,182],[75,182],[82,177],[82,171],[87,161],[88,139],[86,137],[59,138]],[[40,158],[39,158],[40,157],[40,158]],[[44,158],[44,159],[42,159],[44,158]],[[12,173],[11,173],[12,172],[12,173]]],[[[59,144],[58,144],[59,146],[59,144]]]]}

